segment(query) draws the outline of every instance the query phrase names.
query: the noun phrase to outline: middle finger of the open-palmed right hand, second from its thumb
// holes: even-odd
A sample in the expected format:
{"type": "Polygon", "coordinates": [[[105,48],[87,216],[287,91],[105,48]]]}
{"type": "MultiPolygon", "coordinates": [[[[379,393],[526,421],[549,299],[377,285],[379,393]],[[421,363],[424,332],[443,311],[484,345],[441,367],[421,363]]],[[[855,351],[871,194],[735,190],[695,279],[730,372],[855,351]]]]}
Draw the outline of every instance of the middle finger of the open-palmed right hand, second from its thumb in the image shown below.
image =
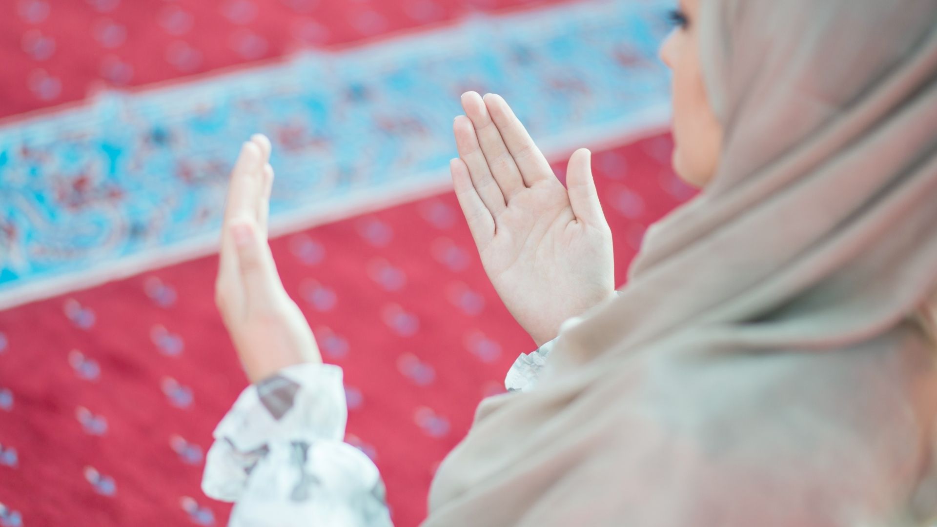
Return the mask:
{"type": "Polygon", "coordinates": [[[466,115],[475,127],[478,143],[482,148],[484,158],[488,162],[491,174],[498,182],[498,187],[501,188],[505,203],[511,202],[514,194],[526,188],[524,178],[517,170],[514,158],[504,144],[498,127],[491,120],[491,115],[488,114],[482,96],[478,95],[477,92],[463,94],[462,108],[465,109],[466,115]]]}

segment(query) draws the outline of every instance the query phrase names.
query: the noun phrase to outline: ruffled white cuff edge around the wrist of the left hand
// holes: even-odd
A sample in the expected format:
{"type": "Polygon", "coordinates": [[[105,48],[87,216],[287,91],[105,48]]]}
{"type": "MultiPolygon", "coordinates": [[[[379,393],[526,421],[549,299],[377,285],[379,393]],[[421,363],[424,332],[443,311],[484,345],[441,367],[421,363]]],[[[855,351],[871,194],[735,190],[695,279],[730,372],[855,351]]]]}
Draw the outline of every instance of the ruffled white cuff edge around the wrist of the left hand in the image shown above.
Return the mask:
{"type": "Polygon", "coordinates": [[[236,501],[271,444],[341,442],[348,408],[342,369],[305,363],[247,386],[215,429],[201,488],[216,500],[236,501]]]}

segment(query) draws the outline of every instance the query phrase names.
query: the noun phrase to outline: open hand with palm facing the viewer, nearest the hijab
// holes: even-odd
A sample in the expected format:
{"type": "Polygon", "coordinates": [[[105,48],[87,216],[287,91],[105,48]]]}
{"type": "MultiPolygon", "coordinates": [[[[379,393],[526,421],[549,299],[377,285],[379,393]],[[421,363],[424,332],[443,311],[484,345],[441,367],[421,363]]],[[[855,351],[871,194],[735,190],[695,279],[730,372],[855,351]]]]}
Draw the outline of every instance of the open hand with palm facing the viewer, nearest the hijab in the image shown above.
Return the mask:
{"type": "Polygon", "coordinates": [[[538,346],[614,294],[612,234],[576,150],[564,188],[503,98],[462,96],[455,194],[501,300],[538,346]]]}

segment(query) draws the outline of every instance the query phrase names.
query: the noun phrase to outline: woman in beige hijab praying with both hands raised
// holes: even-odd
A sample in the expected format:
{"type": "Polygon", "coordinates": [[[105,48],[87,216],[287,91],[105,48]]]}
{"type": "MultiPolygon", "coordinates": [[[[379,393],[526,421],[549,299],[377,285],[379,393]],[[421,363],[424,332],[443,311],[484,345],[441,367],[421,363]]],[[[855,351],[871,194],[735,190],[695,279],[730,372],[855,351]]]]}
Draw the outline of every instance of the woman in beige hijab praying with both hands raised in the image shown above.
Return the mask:
{"type": "MultiPolygon", "coordinates": [[[[459,203],[550,344],[483,400],[426,526],[937,519],[937,0],[686,0],[675,20],[674,165],[703,191],[620,294],[588,152],[564,189],[501,98],[463,97],[459,203]]],[[[386,525],[376,469],[340,443],[340,370],[263,239],[268,155],[258,137],[235,167],[217,283],[256,387],[204,488],[236,525],[386,525]]]]}

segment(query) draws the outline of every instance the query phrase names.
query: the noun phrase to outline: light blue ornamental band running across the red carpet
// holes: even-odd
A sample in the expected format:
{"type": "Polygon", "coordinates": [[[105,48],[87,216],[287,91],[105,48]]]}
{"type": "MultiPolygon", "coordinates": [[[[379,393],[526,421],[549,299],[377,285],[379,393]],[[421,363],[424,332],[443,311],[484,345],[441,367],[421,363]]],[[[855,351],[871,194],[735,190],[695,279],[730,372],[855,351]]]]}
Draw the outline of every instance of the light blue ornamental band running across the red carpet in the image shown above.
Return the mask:
{"type": "MultiPolygon", "coordinates": [[[[468,89],[543,144],[667,103],[672,2],[583,2],[88,104],[0,128],[0,294],[216,233],[255,131],[275,145],[273,218],[448,177],[468,89]]],[[[578,146],[578,145],[577,145],[578,146]]]]}

